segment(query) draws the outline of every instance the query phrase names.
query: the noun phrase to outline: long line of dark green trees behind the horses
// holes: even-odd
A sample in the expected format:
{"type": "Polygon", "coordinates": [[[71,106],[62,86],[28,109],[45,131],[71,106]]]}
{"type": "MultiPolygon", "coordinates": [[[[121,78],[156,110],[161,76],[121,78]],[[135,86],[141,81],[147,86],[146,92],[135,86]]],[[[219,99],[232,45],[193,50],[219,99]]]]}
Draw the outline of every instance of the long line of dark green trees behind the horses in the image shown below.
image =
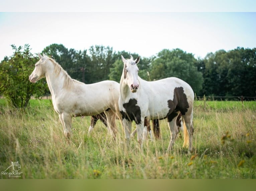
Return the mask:
{"type": "MultiPolygon", "coordinates": [[[[62,44],[51,44],[42,53],[55,59],[72,78],[87,84],[103,80],[119,82],[123,70],[121,55],[125,58],[130,54],[134,58],[139,56],[138,53],[116,52],[112,47],[98,45],[78,51],[62,44]]],[[[12,57],[5,57],[1,65],[11,60],[12,57]]],[[[164,49],[156,56],[141,58],[138,67],[139,76],[145,80],[178,77],[198,96],[256,96],[256,48],[219,50],[204,59],[196,59],[193,54],[180,49],[164,49]]]]}

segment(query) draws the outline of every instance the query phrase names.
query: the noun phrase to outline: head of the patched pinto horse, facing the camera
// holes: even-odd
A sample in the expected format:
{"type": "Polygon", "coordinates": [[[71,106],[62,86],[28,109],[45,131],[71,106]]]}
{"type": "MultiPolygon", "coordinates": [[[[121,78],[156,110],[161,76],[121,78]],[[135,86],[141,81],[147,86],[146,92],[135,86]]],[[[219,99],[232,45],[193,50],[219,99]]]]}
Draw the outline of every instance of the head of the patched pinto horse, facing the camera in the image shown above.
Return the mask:
{"type": "Polygon", "coordinates": [[[138,71],[139,68],[137,64],[140,61],[140,56],[138,56],[137,59],[133,60],[133,57],[131,56],[130,59],[126,60],[123,55],[121,55],[122,61],[124,63],[124,82],[126,85],[130,87],[130,90],[132,93],[137,92],[139,88],[138,84],[138,71]]]}

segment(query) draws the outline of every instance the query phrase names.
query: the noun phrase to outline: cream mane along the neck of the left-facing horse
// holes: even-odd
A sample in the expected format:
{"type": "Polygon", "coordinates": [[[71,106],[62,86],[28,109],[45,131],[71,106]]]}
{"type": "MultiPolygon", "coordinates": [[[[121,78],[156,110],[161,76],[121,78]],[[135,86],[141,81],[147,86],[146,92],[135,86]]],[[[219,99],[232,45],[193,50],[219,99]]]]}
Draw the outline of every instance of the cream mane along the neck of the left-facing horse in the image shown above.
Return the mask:
{"type": "Polygon", "coordinates": [[[54,64],[54,73],[59,74],[60,72],[63,73],[64,75],[64,85],[63,88],[66,90],[72,90],[74,88],[74,83],[80,83],[83,84],[82,82],[79,82],[75,79],[72,79],[70,75],[65,71],[54,59],[49,58],[48,59],[54,64]]]}

